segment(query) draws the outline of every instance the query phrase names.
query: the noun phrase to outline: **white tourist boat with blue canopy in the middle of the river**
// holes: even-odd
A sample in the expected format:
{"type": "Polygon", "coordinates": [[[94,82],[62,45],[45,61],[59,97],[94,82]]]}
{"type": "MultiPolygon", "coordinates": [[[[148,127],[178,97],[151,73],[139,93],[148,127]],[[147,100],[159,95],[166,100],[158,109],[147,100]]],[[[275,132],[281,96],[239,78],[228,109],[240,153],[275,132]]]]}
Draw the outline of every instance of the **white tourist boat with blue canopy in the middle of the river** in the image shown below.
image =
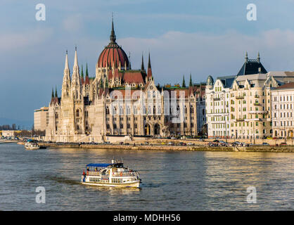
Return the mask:
{"type": "Polygon", "coordinates": [[[139,172],[125,168],[122,162],[112,160],[107,163],[90,163],[87,173],[82,174],[82,184],[92,186],[110,186],[122,188],[139,188],[139,172]]]}

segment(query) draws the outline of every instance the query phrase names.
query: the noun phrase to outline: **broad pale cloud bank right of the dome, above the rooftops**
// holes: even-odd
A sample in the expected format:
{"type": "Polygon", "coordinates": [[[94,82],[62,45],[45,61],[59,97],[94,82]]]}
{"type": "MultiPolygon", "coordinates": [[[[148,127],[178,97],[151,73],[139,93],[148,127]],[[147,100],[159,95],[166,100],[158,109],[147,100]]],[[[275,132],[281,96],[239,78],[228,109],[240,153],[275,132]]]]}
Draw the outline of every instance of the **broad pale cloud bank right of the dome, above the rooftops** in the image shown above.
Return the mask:
{"type": "Polygon", "coordinates": [[[243,64],[245,51],[256,58],[260,51],[267,70],[293,70],[294,31],[269,30],[255,36],[228,31],[225,34],[170,31],[160,37],[119,39],[125,51],[131,51],[133,66],[139,68],[141,53],[151,51],[155,79],[180,82],[183,73],[192,72],[198,82],[207,75],[236,75],[243,64]]]}

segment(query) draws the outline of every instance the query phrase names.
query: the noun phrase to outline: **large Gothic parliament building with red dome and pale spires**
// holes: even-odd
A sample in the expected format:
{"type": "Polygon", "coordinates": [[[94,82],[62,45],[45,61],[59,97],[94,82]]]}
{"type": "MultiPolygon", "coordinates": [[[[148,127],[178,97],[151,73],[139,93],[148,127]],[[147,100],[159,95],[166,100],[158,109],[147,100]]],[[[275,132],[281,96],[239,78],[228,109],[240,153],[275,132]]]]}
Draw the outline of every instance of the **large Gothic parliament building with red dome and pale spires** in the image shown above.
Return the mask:
{"type": "Polygon", "coordinates": [[[150,54],[145,69],[133,70],[116,42],[110,43],[96,63],[96,76],[79,70],[77,48],[70,76],[68,52],[61,96],[52,96],[46,140],[103,142],[128,136],[198,135],[205,124],[205,84],[155,85],[150,54]],[[200,112],[200,113],[199,113],[200,112]]]}

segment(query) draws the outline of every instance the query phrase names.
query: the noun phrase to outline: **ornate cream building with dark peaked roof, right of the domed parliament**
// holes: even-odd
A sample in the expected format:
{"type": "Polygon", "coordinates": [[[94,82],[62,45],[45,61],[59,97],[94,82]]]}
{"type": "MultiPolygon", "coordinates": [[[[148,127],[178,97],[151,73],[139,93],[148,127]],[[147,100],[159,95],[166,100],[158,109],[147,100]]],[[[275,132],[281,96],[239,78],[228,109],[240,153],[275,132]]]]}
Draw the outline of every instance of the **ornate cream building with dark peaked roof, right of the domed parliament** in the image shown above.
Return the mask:
{"type": "Polygon", "coordinates": [[[209,137],[264,139],[273,135],[271,90],[294,81],[293,72],[267,72],[259,53],[257,59],[248,59],[246,53],[237,75],[218,77],[213,85],[211,79],[206,86],[209,137]]]}

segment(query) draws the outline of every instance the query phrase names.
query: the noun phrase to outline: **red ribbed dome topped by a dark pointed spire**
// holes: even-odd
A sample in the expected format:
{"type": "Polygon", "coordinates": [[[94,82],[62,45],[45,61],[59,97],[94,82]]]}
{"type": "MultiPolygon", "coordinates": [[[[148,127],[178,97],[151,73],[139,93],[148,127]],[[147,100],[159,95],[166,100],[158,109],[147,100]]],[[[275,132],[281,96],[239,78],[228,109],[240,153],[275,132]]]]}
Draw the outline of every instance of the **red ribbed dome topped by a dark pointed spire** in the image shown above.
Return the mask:
{"type": "Polygon", "coordinates": [[[112,27],[110,34],[110,43],[106,48],[101,52],[98,58],[98,67],[105,68],[106,64],[109,66],[121,65],[124,67],[127,64],[127,68],[129,67],[129,59],[127,58],[127,54],[122,50],[122,47],[119,46],[116,42],[115,30],[112,27]]]}

